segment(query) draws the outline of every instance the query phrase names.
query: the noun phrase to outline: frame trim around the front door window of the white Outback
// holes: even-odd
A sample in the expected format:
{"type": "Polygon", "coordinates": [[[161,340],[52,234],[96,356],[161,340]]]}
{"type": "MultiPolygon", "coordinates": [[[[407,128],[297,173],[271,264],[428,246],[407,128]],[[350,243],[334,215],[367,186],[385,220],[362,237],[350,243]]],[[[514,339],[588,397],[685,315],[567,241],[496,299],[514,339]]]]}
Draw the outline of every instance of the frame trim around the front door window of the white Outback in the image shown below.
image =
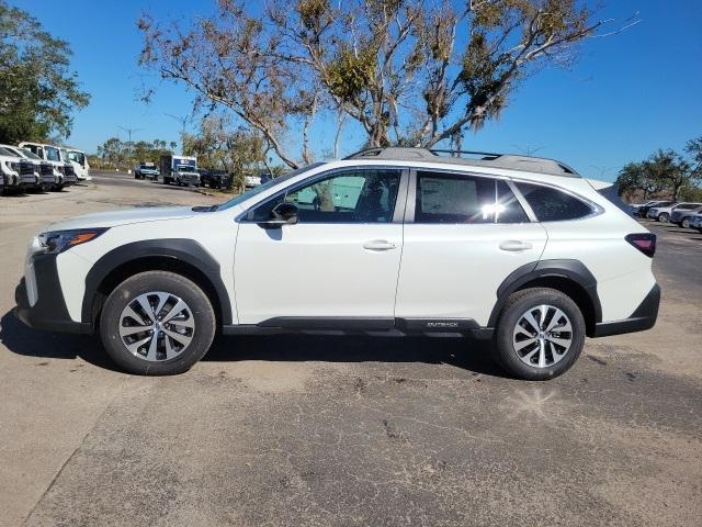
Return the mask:
{"type": "Polygon", "coordinates": [[[393,216],[389,222],[380,223],[380,222],[304,222],[301,225],[392,225],[392,224],[403,224],[403,218],[405,216],[405,209],[407,206],[407,190],[408,190],[408,173],[409,167],[400,167],[400,166],[390,166],[390,165],[356,165],[356,166],[348,166],[348,167],[338,167],[331,170],[326,170],[322,172],[315,173],[309,178],[303,179],[302,181],[297,181],[292,183],[284,189],[275,192],[272,195],[269,195],[264,200],[259,201],[258,203],[251,205],[241,214],[239,214],[235,222],[237,223],[246,223],[246,224],[259,224],[254,220],[249,220],[249,213],[253,212],[256,209],[260,206],[264,206],[267,203],[280,198],[283,194],[288,192],[294,192],[302,187],[306,187],[308,184],[314,184],[316,181],[328,179],[335,177],[336,175],[342,175],[344,172],[359,172],[359,171],[377,171],[377,170],[392,170],[395,172],[399,172],[399,187],[397,188],[397,197],[395,198],[395,209],[393,210],[393,216]],[[403,203],[401,200],[405,200],[403,203]]]}

